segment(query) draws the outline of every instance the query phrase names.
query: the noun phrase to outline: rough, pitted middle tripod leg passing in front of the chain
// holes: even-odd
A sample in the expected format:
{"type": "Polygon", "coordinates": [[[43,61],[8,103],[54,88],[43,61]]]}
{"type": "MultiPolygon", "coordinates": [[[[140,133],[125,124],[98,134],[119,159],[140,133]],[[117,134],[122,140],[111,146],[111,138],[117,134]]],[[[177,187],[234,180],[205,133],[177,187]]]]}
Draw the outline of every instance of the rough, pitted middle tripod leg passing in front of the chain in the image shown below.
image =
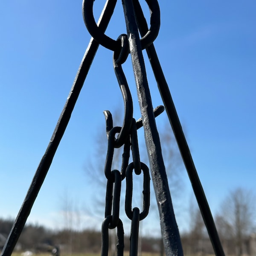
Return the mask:
{"type": "MultiPolygon", "coordinates": [[[[148,1],[150,2],[150,1],[148,1]]],[[[151,1],[156,2],[156,1],[151,1]]],[[[183,255],[180,235],[172,207],[172,199],[169,191],[165,166],[161,154],[160,139],[154,120],[148,81],[145,72],[145,64],[140,46],[138,27],[135,20],[132,0],[124,0],[124,13],[127,35],[134,69],[137,94],[144,126],[145,142],[147,145],[151,176],[160,213],[160,224],[166,255],[183,255]]],[[[151,9],[157,12],[158,8],[151,9]]],[[[158,25],[160,26],[160,18],[158,25]]],[[[151,42],[152,43],[152,42],[151,42]]]]}

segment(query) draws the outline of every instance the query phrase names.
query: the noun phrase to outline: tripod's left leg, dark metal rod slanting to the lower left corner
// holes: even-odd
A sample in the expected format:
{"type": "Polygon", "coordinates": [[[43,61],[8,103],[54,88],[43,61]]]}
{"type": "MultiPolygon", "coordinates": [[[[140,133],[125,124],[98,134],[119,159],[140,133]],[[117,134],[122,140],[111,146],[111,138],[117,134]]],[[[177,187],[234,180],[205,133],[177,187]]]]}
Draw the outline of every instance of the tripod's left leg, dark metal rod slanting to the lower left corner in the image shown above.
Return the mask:
{"type": "MultiPolygon", "coordinates": [[[[107,2],[105,4],[105,7],[102,11],[102,15],[99,18],[99,28],[102,31],[105,31],[107,29],[109,20],[111,19],[111,16],[112,16],[114,8],[115,8],[115,3],[116,3],[116,1],[107,0],[107,2]]],[[[26,197],[25,197],[23,204],[20,208],[20,211],[17,215],[15,223],[12,227],[11,233],[8,236],[8,239],[3,248],[1,256],[11,256],[11,254],[12,254],[15,244],[17,243],[20,233],[23,230],[23,227],[26,223],[26,220],[29,216],[29,213],[30,213],[32,206],[35,202],[35,199],[38,195],[38,192],[39,192],[39,190],[44,182],[44,179],[47,175],[47,172],[52,163],[52,159],[55,155],[55,152],[57,151],[57,148],[61,141],[61,138],[67,128],[67,124],[70,120],[71,113],[73,111],[73,108],[76,105],[76,101],[78,99],[79,93],[84,84],[84,80],[85,80],[87,73],[90,69],[90,65],[93,62],[93,58],[97,52],[98,47],[99,47],[99,43],[97,43],[92,38],[90,40],[90,43],[89,43],[87,49],[86,49],[84,57],[81,61],[75,81],[70,90],[70,94],[67,98],[67,101],[66,101],[64,108],[61,112],[61,115],[58,119],[57,125],[52,134],[52,138],[49,142],[49,145],[45,151],[44,156],[42,157],[41,162],[39,163],[38,169],[35,172],[32,183],[28,189],[26,197]]]]}

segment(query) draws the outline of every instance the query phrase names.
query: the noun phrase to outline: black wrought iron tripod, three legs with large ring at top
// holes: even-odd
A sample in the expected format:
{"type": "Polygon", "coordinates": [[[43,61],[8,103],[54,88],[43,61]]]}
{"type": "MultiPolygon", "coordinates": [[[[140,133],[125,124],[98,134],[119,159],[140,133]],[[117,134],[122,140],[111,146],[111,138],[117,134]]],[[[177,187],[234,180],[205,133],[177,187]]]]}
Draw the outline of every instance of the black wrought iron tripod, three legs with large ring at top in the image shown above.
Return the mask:
{"type": "MultiPolygon", "coordinates": [[[[180,121],[177,116],[177,112],[175,110],[175,105],[172,101],[169,87],[163,75],[163,71],[161,69],[159,60],[157,58],[157,53],[153,45],[153,41],[157,37],[158,31],[160,28],[160,10],[158,6],[158,2],[157,0],[145,0],[146,3],[148,4],[148,7],[151,13],[151,16],[150,16],[151,26],[148,29],[148,25],[143,15],[143,11],[141,9],[139,0],[122,0],[127,34],[121,35],[117,40],[113,40],[108,36],[106,36],[104,32],[113,14],[116,1],[117,0],[107,0],[105,7],[102,11],[102,15],[99,18],[98,25],[96,24],[93,17],[94,0],[84,0],[83,2],[84,22],[87,26],[88,31],[92,35],[92,38],[84,54],[84,57],[81,61],[81,65],[79,67],[73,86],[70,90],[70,94],[68,96],[67,102],[65,103],[63,111],[58,119],[58,123],[53,132],[53,135],[49,142],[47,150],[44,156],[42,157],[42,160],[38,166],[37,171],[35,172],[35,176],[29,187],[26,198],[23,201],[23,204],[20,208],[20,212],[17,215],[15,223],[12,227],[11,233],[9,234],[5,247],[3,248],[3,251],[1,254],[2,256],[11,256],[12,254],[15,244],[17,243],[20,233],[26,223],[26,220],[29,216],[29,213],[38,195],[38,192],[47,175],[47,172],[52,163],[53,157],[61,141],[61,138],[64,135],[64,131],[70,120],[71,113],[73,111],[73,108],[75,107],[76,100],[79,97],[79,93],[84,84],[84,80],[86,79],[87,73],[90,69],[90,65],[92,64],[94,55],[96,54],[99,44],[103,45],[108,49],[111,49],[114,52],[114,60],[115,60],[114,63],[116,64],[116,67],[120,66],[126,60],[129,54],[131,55],[131,61],[132,61],[134,77],[135,77],[135,82],[137,87],[138,101],[140,104],[140,111],[142,116],[142,124],[144,127],[145,141],[146,141],[150,169],[151,169],[151,176],[152,176],[154,190],[157,198],[158,209],[160,212],[160,224],[161,224],[163,243],[164,243],[166,255],[180,256],[180,255],[183,255],[183,251],[182,251],[182,246],[180,242],[179,231],[175,221],[175,215],[173,212],[172,200],[169,192],[165,166],[164,166],[163,157],[161,154],[160,140],[159,140],[157,127],[154,119],[155,115],[157,115],[158,113],[157,112],[154,113],[153,106],[151,103],[151,96],[150,96],[150,91],[148,87],[148,81],[146,78],[145,64],[143,59],[143,52],[142,52],[143,49],[146,50],[148,58],[150,60],[151,67],[154,72],[154,76],[157,81],[157,85],[158,85],[161,97],[163,99],[163,104],[165,106],[170,124],[172,125],[172,129],[174,131],[175,138],[177,140],[177,144],[180,149],[180,153],[183,157],[186,170],[191,180],[192,188],[197,198],[198,205],[201,210],[201,214],[204,218],[204,222],[206,224],[207,231],[209,233],[209,237],[212,242],[212,246],[214,248],[215,254],[218,256],[224,256],[224,251],[221,246],[206,197],[204,195],[204,190],[198,178],[198,175],[189,151],[189,147],[186,143],[186,139],[184,137],[184,134],[180,125],[180,121]],[[139,32],[142,37],[141,39],[139,36],[139,32]]],[[[118,79],[120,79],[120,77],[121,76],[119,76],[118,78],[117,76],[118,79]]],[[[120,82],[119,85],[123,84],[122,81],[119,81],[119,82],[120,82]]],[[[130,99],[127,99],[126,96],[123,95],[123,97],[126,103],[130,101],[130,99]]],[[[129,103],[127,106],[129,106],[129,103]]],[[[129,112],[131,113],[132,111],[126,109],[125,112],[129,114],[129,112]]],[[[110,119],[108,118],[108,113],[106,113],[105,115],[107,119],[108,136],[110,137],[111,130],[113,130],[113,125],[111,125],[111,121],[109,121],[110,119]]],[[[126,116],[126,113],[125,113],[125,116],[126,116]]],[[[132,128],[133,127],[132,122],[134,121],[131,121],[132,113],[129,120],[130,121],[124,120],[123,127],[120,130],[115,132],[115,133],[119,133],[119,136],[117,137],[117,139],[114,138],[114,143],[116,144],[115,147],[124,145],[127,140],[129,140],[129,143],[131,144],[131,146],[133,146],[132,145],[133,143],[131,142],[132,129],[134,129],[132,128]],[[128,137],[127,135],[122,135],[125,133],[128,134],[128,137]],[[118,145],[118,141],[119,141],[119,145],[118,145]]],[[[137,128],[140,126],[140,124],[141,122],[136,123],[137,128]]],[[[135,130],[137,128],[135,128],[135,130]]],[[[132,153],[133,155],[135,155],[133,149],[132,149],[132,153]]],[[[131,169],[134,169],[134,171],[136,172],[136,169],[134,167],[135,162],[136,161],[134,161],[134,156],[133,156],[133,166],[131,167],[131,169]]],[[[140,160],[138,160],[137,162],[140,163],[140,160]]],[[[143,166],[144,165],[142,163],[140,165],[140,168],[144,172],[144,169],[146,168],[145,166],[144,167],[143,166]]],[[[126,166],[126,168],[127,168],[126,170],[126,174],[127,174],[128,165],[126,166]]],[[[130,172],[132,172],[132,170],[129,171],[129,173],[130,172]]],[[[109,179],[111,180],[110,176],[109,176],[109,179]]],[[[116,183],[117,182],[115,180],[115,186],[116,186],[116,183]]],[[[113,183],[112,183],[112,186],[113,186],[113,183]]],[[[112,190],[111,190],[111,194],[112,194],[112,190]]],[[[112,207],[112,202],[110,207],[112,207]]],[[[111,209],[110,210],[106,209],[106,211],[110,212],[109,214],[111,214],[111,209]]],[[[137,209],[134,208],[131,215],[133,214],[134,216],[138,215],[138,213],[136,212],[137,212],[137,209]]],[[[113,228],[113,227],[110,227],[111,224],[113,224],[114,222],[113,215],[111,215],[112,216],[111,218],[108,217],[110,215],[105,216],[107,220],[104,223],[107,223],[107,224],[104,224],[105,225],[104,229],[113,228]]],[[[133,219],[133,216],[131,216],[131,218],[133,219]]],[[[140,217],[138,218],[140,219],[140,217]]],[[[114,226],[117,227],[118,232],[122,232],[122,227],[120,224],[121,222],[119,221],[118,216],[115,219],[116,219],[115,221],[116,223],[114,226]]],[[[135,222],[136,221],[134,221],[134,223],[135,222]]],[[[103,229],[103,226],[102,226],[102,229],[103,229]]],[[[136,237],[134,239],[136,240],[136,237]]],[[[104,242],[104,238],[103,238],[103,242],[104,242]]],[[[136,244],[136,241],[134,243],[136,244]]],[[[102,255],[108,255],[107,254],[108,252],[106,252],[104,248],[102,250],[103,250],[102,255]]],[[[118,250],[117,253],[118,255],[122,255],[122,250],[118,250]]],[[[136,255],[136,248],[135,250],[131,249],[131,255],[136,255]]]]}

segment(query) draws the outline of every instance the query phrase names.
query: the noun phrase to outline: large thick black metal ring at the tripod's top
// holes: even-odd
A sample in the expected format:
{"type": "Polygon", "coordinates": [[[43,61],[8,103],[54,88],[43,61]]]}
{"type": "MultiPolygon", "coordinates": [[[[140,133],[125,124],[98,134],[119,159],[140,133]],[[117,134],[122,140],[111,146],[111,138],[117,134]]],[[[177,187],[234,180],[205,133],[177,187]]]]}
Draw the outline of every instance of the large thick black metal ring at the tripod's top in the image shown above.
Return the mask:
{"type": "MultiPolygon", "coordinates": [[[[111,0],[109,0],[111,1],[111,0]]],[[[116,0],[112,0],[115,1],[116,0]]],[[[142,49],[148,47],[152,44],[154,39],[157,37],[160,29],[160,9],[157,0],[145,0],[148,4],[150,10],[150,29],[148,32],[140,39],[142,49]]],[[[85,26],[87,27],[90,35],[102,46],[115,51],[118,48],[118,42],[113,40],[104,34],[96,24],[93,16],[93,3],[94,0],[84,0],[83,1],[83,18],[85,26]]]]}

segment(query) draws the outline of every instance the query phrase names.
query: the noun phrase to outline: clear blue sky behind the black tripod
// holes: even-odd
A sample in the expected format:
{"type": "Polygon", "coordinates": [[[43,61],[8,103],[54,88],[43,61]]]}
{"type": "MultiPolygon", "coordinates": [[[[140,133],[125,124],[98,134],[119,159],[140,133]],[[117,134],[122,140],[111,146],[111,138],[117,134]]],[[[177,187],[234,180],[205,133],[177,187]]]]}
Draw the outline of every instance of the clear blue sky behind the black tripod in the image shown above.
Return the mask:
{"type": "MultiPolygon", "coordinates": [[[[239,186],[256,193],[256,3],[159,2],[161,27],[154,45],[215,214],[231,189],[239,186]]],[[[95,17],[103,5],[95,1],[95,17]]],[[[146,8],[144,12],[148,17],[146,8]]],[[[1,1],[0,24],[0,217],[15,218],[90,35],[80,0],[1,1]]],[[[121,33],[125,24],[118,1],[106,34],[115,39],[121,33]]],[[[127,62],[125,74],[138,119],[134,76],[131,61],[127,62]]],[[[162,101],[146,55],[145,63],[156,107],[162,101]]],[[[84,166],[98,128],[104,127],[102,111],[122,105],[112,52],[99,47],[29,221],[54,228],[63,225],[60,212],[68,194],[84,212],[84,226],[100,226],[98,216],[87,215],[97,184],[87,177],[84,166]]],[[[165,118],[159,117],[159,125],[165,118]]],[[[185,172],[184,180],[182,200],[189,204],[191,188],[185,172]]]]}

